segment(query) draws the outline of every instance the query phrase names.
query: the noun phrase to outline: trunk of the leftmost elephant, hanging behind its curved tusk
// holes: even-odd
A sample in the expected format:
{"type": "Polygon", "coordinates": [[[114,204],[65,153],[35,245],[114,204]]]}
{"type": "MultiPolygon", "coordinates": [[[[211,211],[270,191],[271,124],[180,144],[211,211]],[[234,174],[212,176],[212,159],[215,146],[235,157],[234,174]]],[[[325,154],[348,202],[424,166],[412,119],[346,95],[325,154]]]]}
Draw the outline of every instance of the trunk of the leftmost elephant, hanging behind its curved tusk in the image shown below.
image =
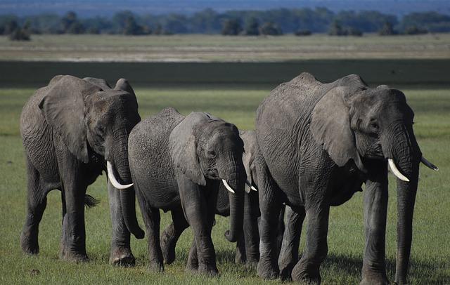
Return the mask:
{"type": "MultiPolygon", "coordinates": [[[[121,184],[131,184],[131,173],[128,163],[128,137],[127,135],[118,135],[119,138],[114,140],[115,150],[113,154],[113,162],[115,165],[115,171],[117,171],[116,178],[120,179],[121,184]]],[[[113,167],[114,168],[114,167],[113,167]]],[[[144,232],[139,227],[138,220],[136,218],[136,197],[134,193],[134,187],[118,190],[120,191],[120,206],[122,208],[122,216],[124,218],[125,225],[129,232],[134,234],[136,239],[143,239],[144,232]]]]}

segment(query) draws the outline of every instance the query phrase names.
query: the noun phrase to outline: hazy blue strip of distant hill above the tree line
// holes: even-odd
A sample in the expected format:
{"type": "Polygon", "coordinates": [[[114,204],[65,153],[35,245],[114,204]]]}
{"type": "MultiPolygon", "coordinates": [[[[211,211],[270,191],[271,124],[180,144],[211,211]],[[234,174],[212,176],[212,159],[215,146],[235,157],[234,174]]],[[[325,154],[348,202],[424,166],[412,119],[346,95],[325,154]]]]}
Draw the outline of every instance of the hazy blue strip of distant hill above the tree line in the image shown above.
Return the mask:
{"type": "Polygon", "coordinates": [[[81,17],[113,15],[130,10],[139,14],[190,14],[205,8],[229,10],[267,10],[272,8],[304,8],[322,6],[331,11],[375,10],[405,15],[416,11],[450,14],[450,0],[1,0],[0,14],[63,14],[75,11],[81,17]]]}

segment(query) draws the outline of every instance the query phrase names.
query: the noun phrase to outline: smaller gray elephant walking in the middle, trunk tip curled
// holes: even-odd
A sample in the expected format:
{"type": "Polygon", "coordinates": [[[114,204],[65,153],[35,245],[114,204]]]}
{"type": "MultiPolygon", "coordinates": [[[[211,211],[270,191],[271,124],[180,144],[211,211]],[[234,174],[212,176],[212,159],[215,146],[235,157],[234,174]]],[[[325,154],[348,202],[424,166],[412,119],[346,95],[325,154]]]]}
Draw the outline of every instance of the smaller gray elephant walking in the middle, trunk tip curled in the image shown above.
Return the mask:
{"type": "MultiPolygon", "coordinates": [[[[191,225],[194,241],[186,270],[218,273],[211,230],[221,179],[231,195],[229,241],[242,234],[245,168],[243,142],[233,124],[204,112],[184,117],[166,108],[136,125],[129,136],[129,165],[148,232],[150,267],[164,270],[160,212],[171,211],[177,231],[191,225]]],[[[182,230],[181,230],[182,232],[182,230]]]]}

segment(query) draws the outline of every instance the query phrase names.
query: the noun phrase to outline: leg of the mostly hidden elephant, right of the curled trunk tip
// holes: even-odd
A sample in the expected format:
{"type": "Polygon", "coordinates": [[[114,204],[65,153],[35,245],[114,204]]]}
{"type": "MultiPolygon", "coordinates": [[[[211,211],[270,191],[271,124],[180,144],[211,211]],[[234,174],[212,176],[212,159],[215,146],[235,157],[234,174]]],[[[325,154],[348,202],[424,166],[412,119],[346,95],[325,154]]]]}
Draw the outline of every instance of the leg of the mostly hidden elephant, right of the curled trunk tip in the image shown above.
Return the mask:
{"type": "Polygon", "coordinates": [[[259,261],[258,216],[258,193],[251,191],[245,194],[244,211],[245,263],[250,267],[256,267],[259,261]]]}

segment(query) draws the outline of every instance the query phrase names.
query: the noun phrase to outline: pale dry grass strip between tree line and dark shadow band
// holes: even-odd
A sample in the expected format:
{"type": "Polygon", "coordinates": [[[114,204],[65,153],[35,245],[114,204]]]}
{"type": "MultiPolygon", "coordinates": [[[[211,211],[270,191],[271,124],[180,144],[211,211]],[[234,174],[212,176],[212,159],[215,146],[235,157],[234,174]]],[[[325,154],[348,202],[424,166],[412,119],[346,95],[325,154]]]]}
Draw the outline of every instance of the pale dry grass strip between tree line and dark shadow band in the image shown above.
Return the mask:
{"type": "Polygon", "coordinates": [[[221,35],[32,35],[0,37],[0,60],[280,61],[342,58],[450,58],[450,34],[380,37],[221,35]]]}

